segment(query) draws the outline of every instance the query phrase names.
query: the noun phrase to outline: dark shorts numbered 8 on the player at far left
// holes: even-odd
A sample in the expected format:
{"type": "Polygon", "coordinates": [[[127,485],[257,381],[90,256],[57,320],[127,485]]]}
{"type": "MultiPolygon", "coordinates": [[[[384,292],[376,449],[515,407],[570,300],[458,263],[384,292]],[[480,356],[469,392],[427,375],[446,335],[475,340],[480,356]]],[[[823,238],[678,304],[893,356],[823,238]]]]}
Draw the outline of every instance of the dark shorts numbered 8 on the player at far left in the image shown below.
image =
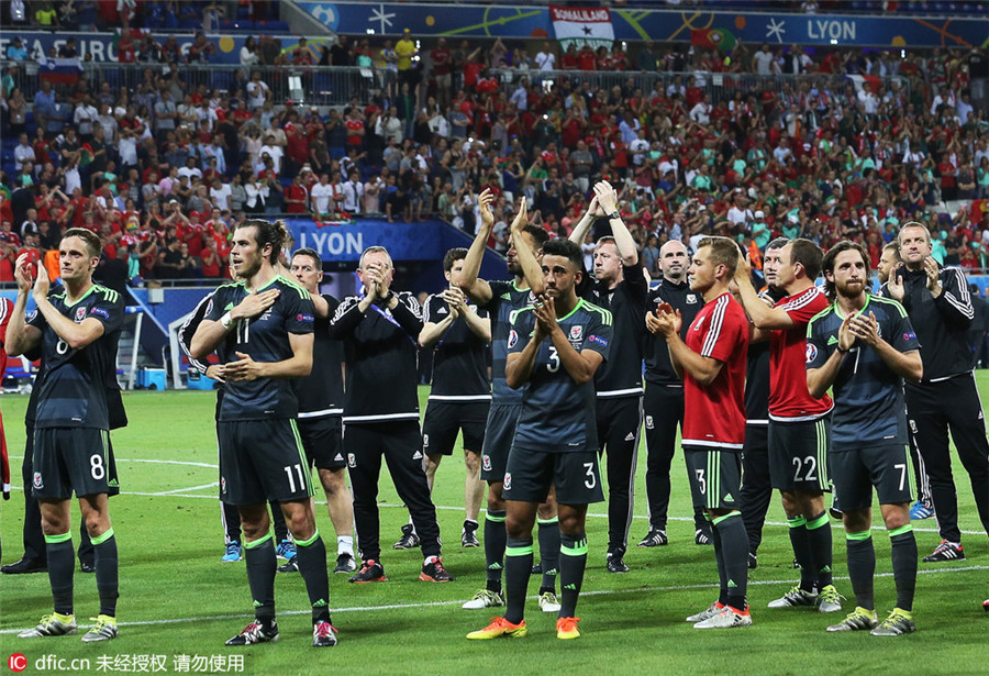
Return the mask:
{"type": "Polygon", "coordinates": [[[34,430],[33,495],[37,499],[68,500],[120,490],[110,433],[95,428],[36,428],[34,430]]]}

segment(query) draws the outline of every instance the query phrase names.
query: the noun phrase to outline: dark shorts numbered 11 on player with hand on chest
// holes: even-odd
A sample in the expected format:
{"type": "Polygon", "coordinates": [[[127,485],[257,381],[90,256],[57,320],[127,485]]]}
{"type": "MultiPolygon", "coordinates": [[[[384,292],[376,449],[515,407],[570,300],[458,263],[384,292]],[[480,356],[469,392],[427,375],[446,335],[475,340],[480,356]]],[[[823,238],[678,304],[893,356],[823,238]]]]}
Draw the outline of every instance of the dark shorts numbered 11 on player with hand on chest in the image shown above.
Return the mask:
{"type": "Polygon", "coordinates": [[[216,436],[220,499],[227,505],[312,497],[312,477],[295,420],[220,421],[216,436]]]}

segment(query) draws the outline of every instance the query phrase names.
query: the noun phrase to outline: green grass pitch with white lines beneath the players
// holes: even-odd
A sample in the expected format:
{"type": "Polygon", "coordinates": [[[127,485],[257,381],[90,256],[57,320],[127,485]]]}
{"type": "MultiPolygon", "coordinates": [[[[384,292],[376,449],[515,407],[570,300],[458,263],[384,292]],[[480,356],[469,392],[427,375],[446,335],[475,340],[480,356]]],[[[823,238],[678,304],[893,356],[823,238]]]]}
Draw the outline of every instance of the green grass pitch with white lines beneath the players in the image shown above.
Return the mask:
{"type": "MultiPolygon", "coordinates": [[[[979,373],[984,395],[989,378],[979,373]]],[[[420,390],[424,405],[426,390],[420,390]]],[[[984,400],[989,398],[984,397],[984,400]]],[[[221,564],[223,532],[216,501],[216,442],[211,392],[134,392],[124,401],[131,424],[113,433],[123,495],[111,501],[120,546],[120,639],[84,645],[78,636],[19,640],[15,632],[35,624],[51,611],[46,575],[0,578],[0,653],[26,657],[24,673],[78,673],[71,660],[89,660],[87,673],[136,672],[151,655],[164,655],[157,673],[176,673],[180,655],[190,673],[231,671],[230,655],[243,655],[243,673],[251,674],[986,674],[989,613],[989,546],[981,532],[971,490],[955,457],[962,529],[968,559],[954,565],[920,564],[915,619],[919,631],[897,639],[867,633],[827,634],[840,619],[812,609],[770,611],[766,603],[781,596],[798,578],[782,510],[774,499],[752,572],[749,601],[754,627],[702,632],[684,622],[716,595],[716,573],[710,547],[693,544],[689,494],[681,456],[674,461],[670,544],[641,550],[632,546],[632,570],[610,575],[604,569],[607,521],[604,506],[591,507],[588,518],[590,556],[578,614],[584,618],[578,641],[555,636],[555,618],[527,607],[530,634],[522,640],[468,642],[468,631],[485,625],[494,612],[462,610],[460,603],[484,586],[481,548],[459,546],[464,465],[456,455],[443,462],[434,499],[446,541],[444,561],[457,576],[453,584],[418,581],[419,551],[386,548],[382,559],[390,581],[349,585],[331,576],[334,624],[340,645],[314,651],[309,609],[298,575],[279,575],[276,592],[281,640],[247,650],[223,642],[248,621],[251,598],[244,564],[221,564]],[[66,668],[38,671],[45,655],[63,660],[66,668]],[[101,656],[105,656],[100,662],[101,656]],[[209,662],[209,658],[219,661],[209,662]],[[102,666],[101,666],[102,665],[102,666]],[[109,666],[108,666],[109,665],[109,666]],[[111,668],[111,666],[113,668],[111,668]],[[211,668],[212,667],[212,668],[211,668]]],[[[22,499],[20,464],[26,398],[4,395],[2,411],[14,475],[12,499],[2,503],[0,535],[3,561],[21,553],[22,499]]],[[[423,406],[423,410],[425,407],[423,406]]],[[[633,545],[646,532],[645,445],[640,451],[633,545]]],[[[408,514],[401,508],[387,473],[380,483],[382,543],[393,542],[408,514]]],[[[877,510],[878,511],[878,510],[877,510]]],[[[78,506],[74,506],[74,514],[78,506]]],[[[78,527],[78,517],[74,517],[78,527]]],[[[318,524],[332,555],[333,528],[320,505],[318,524]]],[[[854,606],[844,565],[844,538],[834,528],[835,575],[838,590],[854,606]]],[[[933,520],[914,522],[921,555],[938,538],[933,520]]],[[[889,541],[881,523],[874,525],[877,548],[876,601],[880,613],[896,599],[890,574],[889,541]]],[[[75,535],[78,541],[78,534],[75,535]]],[[[537,581],[530,591],[535,594],[537,581]]],[[[96,616],[96,580],[76,573],[76,613],[80,624],[96,616]]],[[[492,609],[493,610],[493,609],[492,609]]],[[[843,613],[842,616],[843,617],[843,613]]],[[[80,634],[82,630],[80,628],[80,634]]],[[[51,667],[52,663],[47,663],[51,667]]],[[[43,664],[42,666],[46,666],[43,664]]],[[[236,668],[236,667],[235,667],[236,668]]],[[[0,667],[3,671],[4,667],[0,667]]],[[[148,668],[149,673],[152,672],[148,668]]],[[[13,672],[10,672],[13,673],[13,672]]]]}

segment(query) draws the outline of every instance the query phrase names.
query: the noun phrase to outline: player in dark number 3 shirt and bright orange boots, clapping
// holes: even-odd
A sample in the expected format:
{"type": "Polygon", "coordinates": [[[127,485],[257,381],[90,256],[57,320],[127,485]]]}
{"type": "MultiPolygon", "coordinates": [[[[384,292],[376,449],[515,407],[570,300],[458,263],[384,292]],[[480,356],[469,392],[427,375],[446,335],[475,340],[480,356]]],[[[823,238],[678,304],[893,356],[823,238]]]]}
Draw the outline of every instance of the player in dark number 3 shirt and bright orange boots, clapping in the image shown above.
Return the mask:
{"type": "Polygon", "coordinates": [[[556,485],[559,503],[558,639],[576,639],[577,597],[587,565],[587,506],[604,499],[598,470],[594,373],[608,357],[611,312],[577,298],[584,254],[573,242],[543,246],[546,292],[515,313],[508,337],[508,386],[524,387],[504,473],[508,506],[505,614],[468,639],[524,636],[536,509],[556,485]]]}

